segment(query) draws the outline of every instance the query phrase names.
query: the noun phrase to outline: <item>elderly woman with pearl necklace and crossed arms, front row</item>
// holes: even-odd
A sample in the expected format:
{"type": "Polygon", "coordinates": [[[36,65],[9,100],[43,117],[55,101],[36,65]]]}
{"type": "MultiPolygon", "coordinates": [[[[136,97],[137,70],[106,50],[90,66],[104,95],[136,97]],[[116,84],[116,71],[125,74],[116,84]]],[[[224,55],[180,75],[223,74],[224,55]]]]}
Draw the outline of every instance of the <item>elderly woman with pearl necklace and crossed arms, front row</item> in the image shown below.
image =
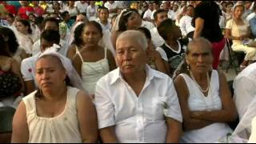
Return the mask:
{"type": "Polygon", "coordinates": [[[206,38],[188,44],[186,62],[174,78],[182,116],[180,142],[217,142],[232,130],[226,122],[234,121],[237,112],[224,74],[212,70],[211,45],[206,38]]]}

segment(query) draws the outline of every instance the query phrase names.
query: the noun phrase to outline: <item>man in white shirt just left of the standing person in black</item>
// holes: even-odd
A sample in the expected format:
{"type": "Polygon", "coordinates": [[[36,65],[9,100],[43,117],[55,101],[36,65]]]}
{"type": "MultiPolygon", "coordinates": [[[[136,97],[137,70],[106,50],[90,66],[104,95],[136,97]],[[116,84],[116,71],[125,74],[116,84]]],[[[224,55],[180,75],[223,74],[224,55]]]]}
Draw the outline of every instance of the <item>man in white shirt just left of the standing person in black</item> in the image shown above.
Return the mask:
{"type": "Polygon", "coordinates": [[[190,34],[189,38],[193,38],[194,26],[191,25],[192,18],[194,16],[194,6],[190,5],[186,7],[186,15],[184,15],[179,21],[179,27],[182,30],[182,36],[186,37],[190,34]]]}

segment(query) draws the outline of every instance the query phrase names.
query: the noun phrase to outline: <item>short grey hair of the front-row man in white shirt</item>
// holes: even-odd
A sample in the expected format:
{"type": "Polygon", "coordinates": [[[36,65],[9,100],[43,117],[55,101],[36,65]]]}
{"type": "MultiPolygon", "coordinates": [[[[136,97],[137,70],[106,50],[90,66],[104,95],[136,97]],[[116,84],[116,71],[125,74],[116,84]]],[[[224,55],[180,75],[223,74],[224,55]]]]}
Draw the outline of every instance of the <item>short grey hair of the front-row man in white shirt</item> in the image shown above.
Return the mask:
{"type": "Polygon", "coordinates": [[[142,34],[142,32],[138,30],[126,30],[122,32],[122,34],[120,34],[117,38],[116,45],[118,45],[118,41],[120,41],[121,39],[125,39],[125,40],[133,39],[142,47],[142,50],[145,50],[145,51],[148,47],[145,34],[142,34]]]}

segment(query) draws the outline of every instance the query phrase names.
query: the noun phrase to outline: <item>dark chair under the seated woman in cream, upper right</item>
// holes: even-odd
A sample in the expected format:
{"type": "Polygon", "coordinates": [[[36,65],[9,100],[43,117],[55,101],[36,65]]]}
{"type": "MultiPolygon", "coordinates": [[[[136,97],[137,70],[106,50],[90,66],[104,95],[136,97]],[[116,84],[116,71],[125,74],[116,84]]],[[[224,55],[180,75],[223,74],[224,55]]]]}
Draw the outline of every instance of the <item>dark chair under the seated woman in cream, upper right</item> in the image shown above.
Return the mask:
{"type": "Polygon", "coordinates": [[[226,38],[226,45],[228,47],[228,53],[229,53],[229,62],[228,62],[228,66],[226,67],[226,73],[228,72],[228,70],[230,68],[234,68],[235,73],[238,74],[241,70],[240,70],[240,63],[242,62],[243,58],[245,57],[245,53],[244,52],[238,52],[238,51],[234,51],[231,48],[231,41],[226,38]],[[239,68],[239,70],[238,70],[239,68]]]}

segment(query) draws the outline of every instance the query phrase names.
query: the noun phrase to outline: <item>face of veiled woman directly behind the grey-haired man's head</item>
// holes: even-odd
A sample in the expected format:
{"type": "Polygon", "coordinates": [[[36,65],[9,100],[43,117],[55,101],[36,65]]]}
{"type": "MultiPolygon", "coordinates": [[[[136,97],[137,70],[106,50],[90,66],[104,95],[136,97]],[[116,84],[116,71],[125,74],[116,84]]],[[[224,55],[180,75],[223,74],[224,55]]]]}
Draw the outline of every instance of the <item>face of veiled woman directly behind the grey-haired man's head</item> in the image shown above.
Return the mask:
{"type": "Polygon", "coordinates": [[[127,22],[127,30],[137,29],[142,25],[142,18],[136,12],[130,14],[127,22]]]}

